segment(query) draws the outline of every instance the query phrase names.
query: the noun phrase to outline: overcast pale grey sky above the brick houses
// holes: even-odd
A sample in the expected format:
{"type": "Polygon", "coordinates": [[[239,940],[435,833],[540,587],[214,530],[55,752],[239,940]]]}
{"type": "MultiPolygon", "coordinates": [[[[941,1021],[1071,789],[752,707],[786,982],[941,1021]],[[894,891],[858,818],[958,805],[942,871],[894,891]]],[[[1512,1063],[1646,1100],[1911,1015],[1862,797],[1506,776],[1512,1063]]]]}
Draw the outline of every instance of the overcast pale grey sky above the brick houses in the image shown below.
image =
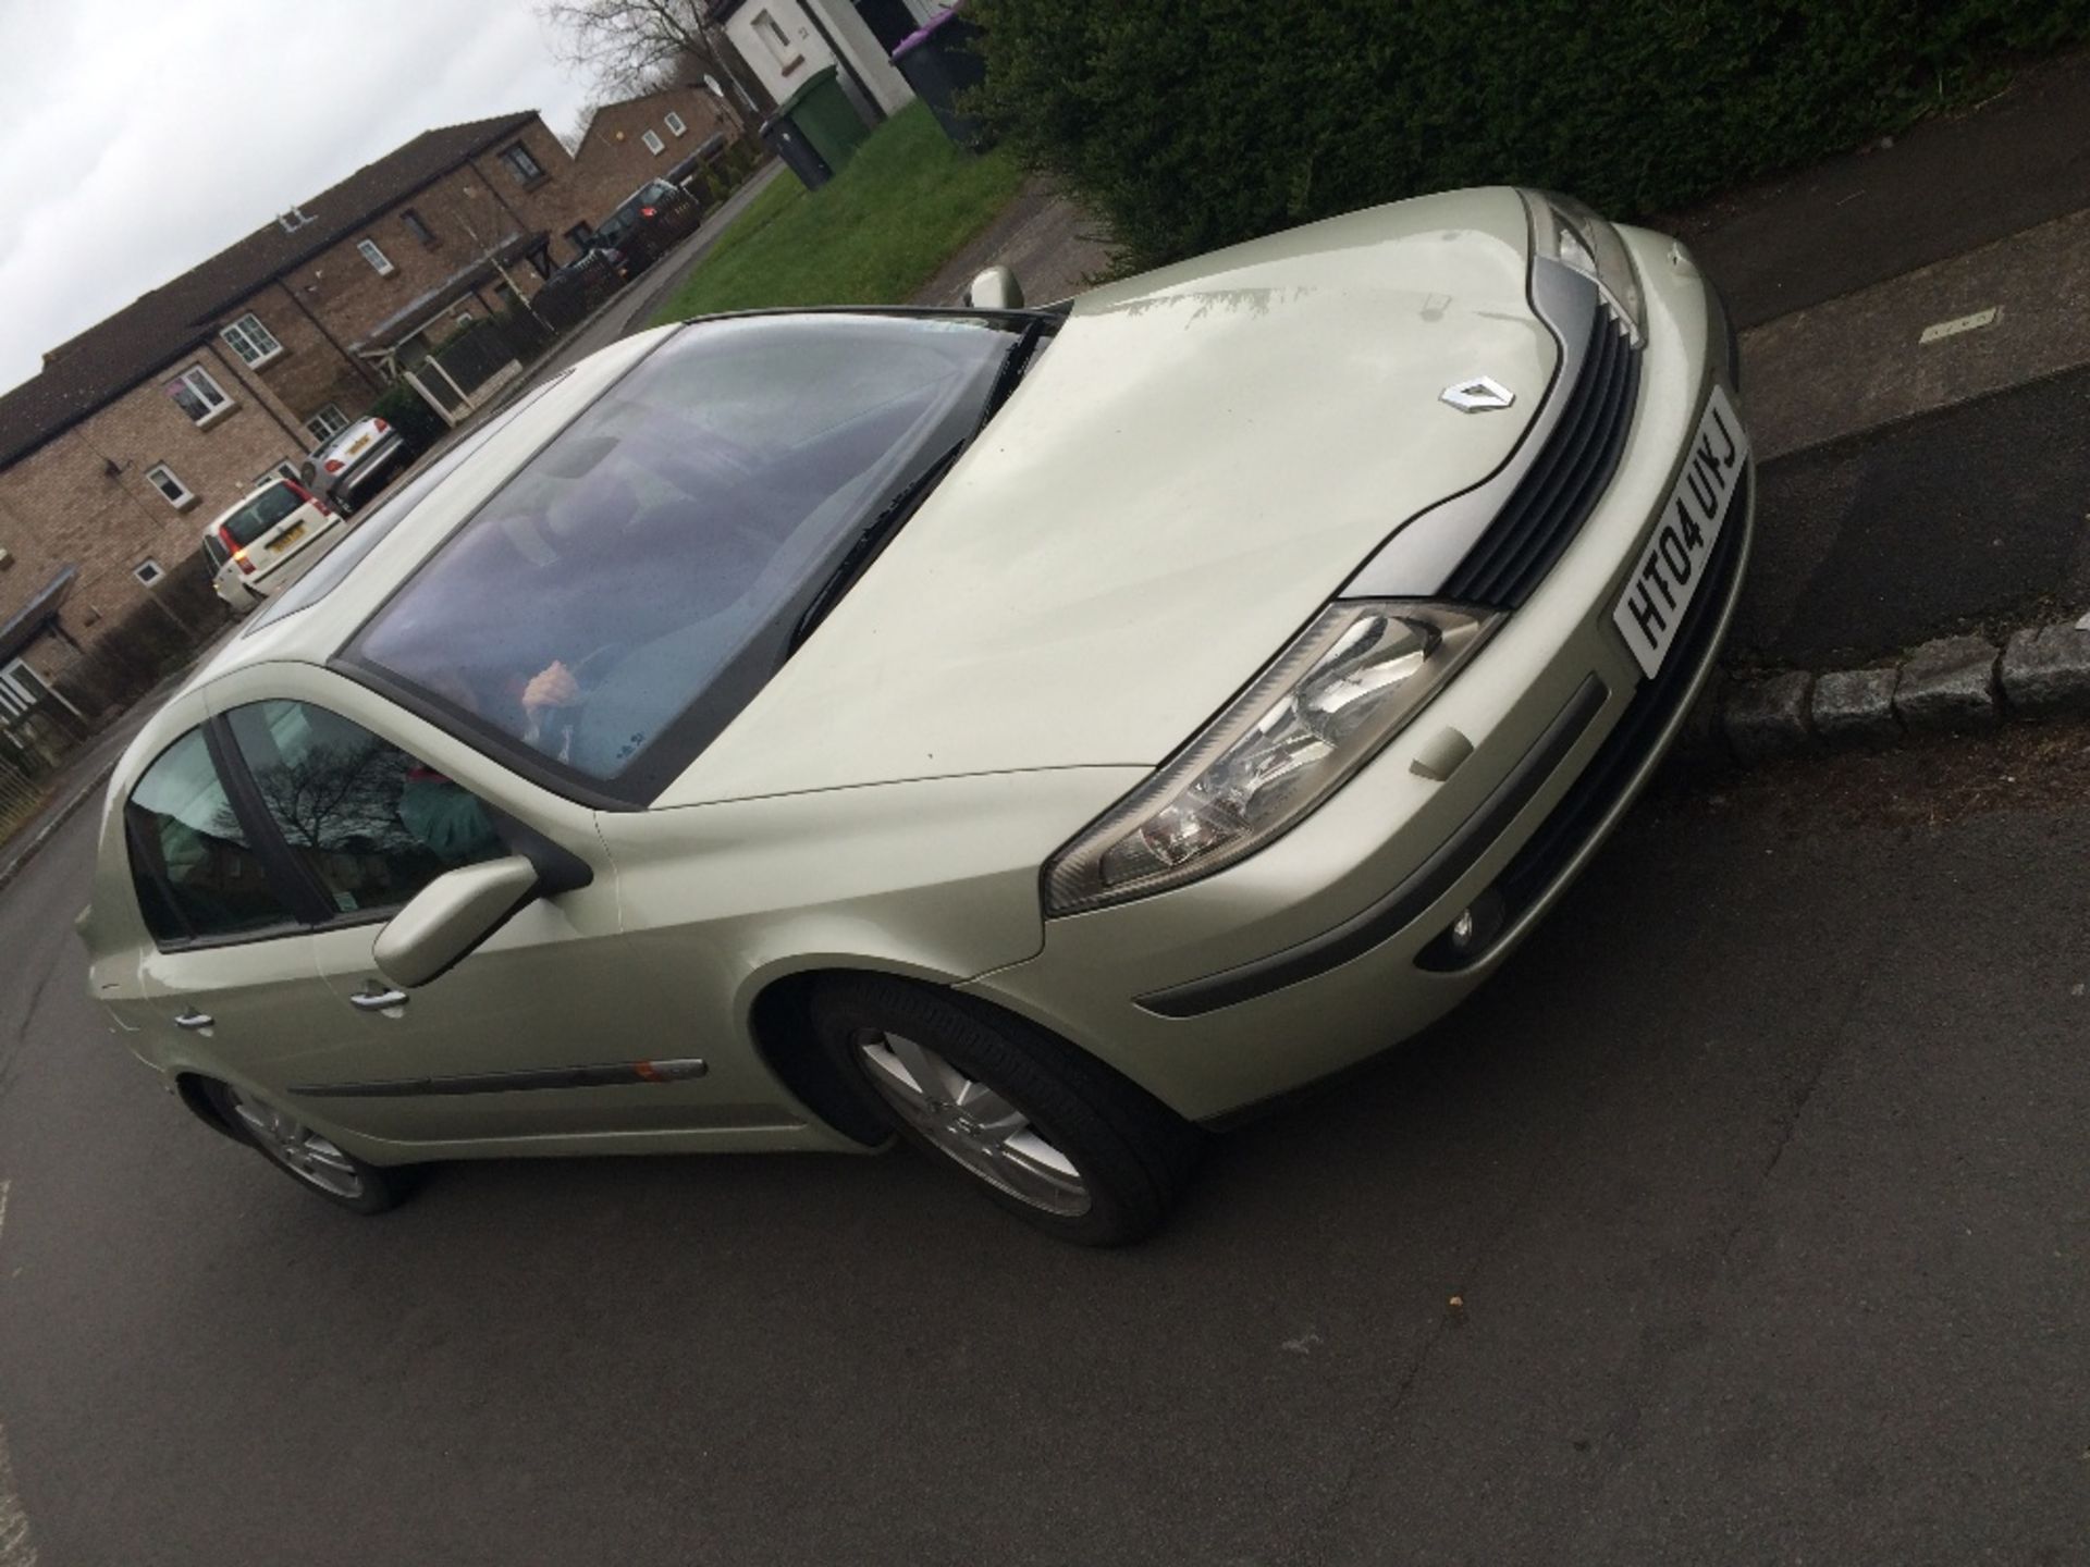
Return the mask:
{"type": "Polygon", "coordinates": [[[0,391],[433,125],[587,84],[529,0],[0,0],[0,391]]]}

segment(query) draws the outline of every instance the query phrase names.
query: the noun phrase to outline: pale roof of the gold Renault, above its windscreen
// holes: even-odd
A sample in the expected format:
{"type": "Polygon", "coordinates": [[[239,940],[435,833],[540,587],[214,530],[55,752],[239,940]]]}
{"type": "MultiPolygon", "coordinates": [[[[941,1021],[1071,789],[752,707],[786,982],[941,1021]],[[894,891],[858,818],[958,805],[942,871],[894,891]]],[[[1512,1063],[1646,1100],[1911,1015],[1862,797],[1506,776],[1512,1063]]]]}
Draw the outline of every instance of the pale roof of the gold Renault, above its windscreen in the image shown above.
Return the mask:
{"type": "MultiPolygon", "coordinates": [[[[324,664],[420,564],[596,397],[679,328],[660,326],[614,343],[560,372],[487,445],[443,478],[328,593],[295,614],[232,637],[184,689],[211,685],[251,664],[324,664]]],[[[470,437],[466,437],[470,439],[470,437]]]]}

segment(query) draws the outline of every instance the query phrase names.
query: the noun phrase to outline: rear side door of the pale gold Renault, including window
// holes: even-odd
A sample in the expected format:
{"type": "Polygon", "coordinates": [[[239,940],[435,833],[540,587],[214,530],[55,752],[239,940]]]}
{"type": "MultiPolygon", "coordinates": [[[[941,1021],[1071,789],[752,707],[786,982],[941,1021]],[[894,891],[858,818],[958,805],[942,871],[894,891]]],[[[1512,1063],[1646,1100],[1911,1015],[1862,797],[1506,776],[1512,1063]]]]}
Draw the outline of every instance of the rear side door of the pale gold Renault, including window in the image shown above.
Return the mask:
{"type": "MultiPolygon", "coordinates": [[[[199,712],[201,717],[201,712],[199,712]]],[[[334,1003],[311,926],[234,806],[222,748],[196,725],[123,802],[138,907],[153,942],[123,1026],[169,1038],[178,1068],[280,1093],[309,1020],[334,1003]]]]}

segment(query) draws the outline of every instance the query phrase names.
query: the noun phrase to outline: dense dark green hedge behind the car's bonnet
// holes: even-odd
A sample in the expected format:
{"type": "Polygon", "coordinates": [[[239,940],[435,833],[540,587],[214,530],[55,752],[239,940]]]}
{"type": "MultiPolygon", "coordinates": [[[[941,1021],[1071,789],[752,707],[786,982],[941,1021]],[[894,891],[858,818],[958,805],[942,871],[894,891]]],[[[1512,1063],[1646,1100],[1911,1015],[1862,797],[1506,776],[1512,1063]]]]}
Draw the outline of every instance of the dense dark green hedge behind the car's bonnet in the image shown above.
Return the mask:
{"type": "Polygon", "coordinates": [[[974,0],[978,107],[1156,265],[1473,184],[1645,215],[1845,150],[2090,0],[974,0]]]}

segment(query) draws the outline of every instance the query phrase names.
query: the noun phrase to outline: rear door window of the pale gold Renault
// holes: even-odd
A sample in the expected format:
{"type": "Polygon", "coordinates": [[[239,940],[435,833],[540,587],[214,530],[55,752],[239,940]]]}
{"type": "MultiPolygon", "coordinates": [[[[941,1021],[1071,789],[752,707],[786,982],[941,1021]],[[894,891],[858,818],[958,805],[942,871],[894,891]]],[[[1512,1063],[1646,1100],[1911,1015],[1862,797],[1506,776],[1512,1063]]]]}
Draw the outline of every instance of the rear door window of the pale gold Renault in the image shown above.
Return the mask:
{"type": "Polygon", "coordinates": [[[138,907],[163,946],[293,923],[232,815],[201,729],[159,754],[123,819],[138,907]]]}

